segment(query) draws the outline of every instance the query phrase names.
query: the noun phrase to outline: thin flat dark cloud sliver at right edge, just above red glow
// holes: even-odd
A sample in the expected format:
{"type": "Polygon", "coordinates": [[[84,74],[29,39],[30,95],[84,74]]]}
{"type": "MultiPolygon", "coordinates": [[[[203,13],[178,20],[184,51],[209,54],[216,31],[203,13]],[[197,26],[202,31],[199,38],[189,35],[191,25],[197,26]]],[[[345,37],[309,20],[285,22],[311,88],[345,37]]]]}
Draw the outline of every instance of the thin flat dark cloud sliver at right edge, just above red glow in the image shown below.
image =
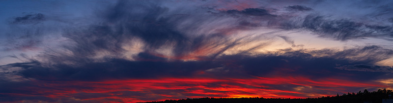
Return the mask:
{"type": "Polygon", "coordinates": [[[393,68],[391,66],[377,66],[377,65],[365,65],[365,64],[356,64],[356,65],[344,65],[340,67],[336,67],[341,70],[349,70],[349,71],[367,71],[367,72],[393,72],[393,68]]]}

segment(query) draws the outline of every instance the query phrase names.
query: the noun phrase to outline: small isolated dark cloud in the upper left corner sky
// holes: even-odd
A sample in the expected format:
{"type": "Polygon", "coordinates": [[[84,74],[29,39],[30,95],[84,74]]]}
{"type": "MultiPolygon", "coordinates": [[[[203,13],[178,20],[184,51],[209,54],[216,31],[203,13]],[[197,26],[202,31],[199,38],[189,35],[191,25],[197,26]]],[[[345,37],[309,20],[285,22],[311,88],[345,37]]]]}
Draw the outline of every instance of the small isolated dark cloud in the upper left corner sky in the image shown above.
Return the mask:
{"type": "Polygon", "coordinates": [[[39,23],[41,21],[45,21],[45,15],[41,13],[37,14],[29,14],[22,17],[14,18],[12,23],[20,23],[20,24],[29,24],[29,23],[39,23]]]}

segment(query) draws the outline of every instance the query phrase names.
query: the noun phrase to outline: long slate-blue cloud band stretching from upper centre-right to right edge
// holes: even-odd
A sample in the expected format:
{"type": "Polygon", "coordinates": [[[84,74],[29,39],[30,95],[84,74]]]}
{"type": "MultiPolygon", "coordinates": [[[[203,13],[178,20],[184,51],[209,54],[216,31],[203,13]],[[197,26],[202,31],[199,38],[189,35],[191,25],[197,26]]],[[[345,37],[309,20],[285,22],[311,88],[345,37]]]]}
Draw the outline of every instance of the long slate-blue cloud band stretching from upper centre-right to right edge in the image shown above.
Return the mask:
{"type": "MultiPolygon", "coordinates": [[[[288,6],[291,10],[307,10],[305,6],[288,6]]],[[[274,11],[279,12],[279,11],[274,11]]],[[[335,19],[331,16],[319,13],[306,13],[305,16],[288,14],[271,14],[260,8],[246,8],[244,10],[227,10],[226,14],[235,16],[259,16],[260,18],[240,18],[238,25],[246,27],[268,27],[281,29],[309,30],[323,38],[332,38],[338,41],[353,39],[392,38],[393,27],[391,25],[376,25],[369,22],[358,22],[351,19],[335,19]]]]}

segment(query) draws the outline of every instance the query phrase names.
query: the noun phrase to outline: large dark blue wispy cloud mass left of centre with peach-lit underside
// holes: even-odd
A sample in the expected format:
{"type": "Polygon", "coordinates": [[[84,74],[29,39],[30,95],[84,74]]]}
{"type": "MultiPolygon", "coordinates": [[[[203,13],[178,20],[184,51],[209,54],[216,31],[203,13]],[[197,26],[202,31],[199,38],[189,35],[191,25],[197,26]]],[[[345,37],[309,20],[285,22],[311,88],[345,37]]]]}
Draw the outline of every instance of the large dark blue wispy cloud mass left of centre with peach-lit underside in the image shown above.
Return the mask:
{"type": "MultiPolygon", "coordinates": [[[[73,42],[70,45],[64,44],[63,46],[73,56],[56,59],[64,60],[73,57],[85,57],[81,60],[90,61],[88,60],[89,58],[102,55],[102,53],[119,58],[127,52],[125,47],[135,45],[135,43],[143,44],[143,47],[140,47],[141,50],[135,53],[138,55],[143,55],[141,54],[143,52],[164,57],[168,60],[186,61],[199,60],[202,59],[201,57],[203,59],[212,59],[235,46],[255,41],[248,38],[249,36],[247,35],[240,37],[226,36],[228,32],[225,31],[226,29],[243,29],[237,28],[239,26],[236,25],[234,27],[225,27],[223,28],[224,30],[204,27],[227,25],[227,22],[209,22],[211,19],[216,20],[220,17],[203,17],[198,18],[203,19],[203,21],[195,21],[196,18],[191,18],[189,15],[173,15],[169,8],[154,3],[122,2],[109,7],[109,11],[111,12],[100,15],[100,18],[103,20],[100,24],[92,24],[79,30],[74,28],[66,30],[67,32],[63,34],[63,37],[73,42]],[[135,6],[130,8],[129,5],[135,6]],[[179,27],[178,25],[181,25],[183,22],[192,22],[196,23],[196,25],[187,24],[185,25],[187,28],[179,27]],[[210,24],[204,25],[204,23],[210,24]],[[202,32],[203,34],[197,35],[195,32],[190,32],[194,28],[208,29],[206,31],[211,31],[211,33],[202,32]],[[140,40],[140,42],[130,40],[140,40]]],[[[263,9],[247,9],[242,11],[242,13],[255,14],[259,11],[264,12],[263,9]]],[[[190,15],[199,16],[202,14],[190,15]]],[[[55,53],[53,55],[56,54],[67,53],[55,53]]],[[[138,56],[130,57],[132,59],[143,59],[138,56]]]]}

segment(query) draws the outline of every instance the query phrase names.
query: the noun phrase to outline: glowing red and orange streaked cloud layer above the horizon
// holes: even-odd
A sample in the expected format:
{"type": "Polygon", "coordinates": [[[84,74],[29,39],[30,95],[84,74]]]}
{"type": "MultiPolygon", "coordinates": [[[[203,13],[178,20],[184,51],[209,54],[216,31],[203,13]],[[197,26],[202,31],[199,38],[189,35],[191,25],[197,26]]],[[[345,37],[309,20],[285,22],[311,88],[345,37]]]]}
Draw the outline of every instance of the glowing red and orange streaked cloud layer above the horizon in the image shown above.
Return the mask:
{"type": "Polygon", "coordinates": [[[19,90],[26,90],[28,93],[2,94],[14,97],[44,96],[53,100],[146,102],[202,97],[312,98],[335,95],[327,93],[337,93],[340,92],[339,90],[345,90],[348,87],[387,87],[375,82],[354,82],[329,78],[312,80],[306,77],[160,78],[101,82],[33,82],[35,86],[19,88],[19,90]],[[300,88],[294,89],[295,87],[300,88]],[[301,89],[305,87],[307,88],[301,89]]]}

